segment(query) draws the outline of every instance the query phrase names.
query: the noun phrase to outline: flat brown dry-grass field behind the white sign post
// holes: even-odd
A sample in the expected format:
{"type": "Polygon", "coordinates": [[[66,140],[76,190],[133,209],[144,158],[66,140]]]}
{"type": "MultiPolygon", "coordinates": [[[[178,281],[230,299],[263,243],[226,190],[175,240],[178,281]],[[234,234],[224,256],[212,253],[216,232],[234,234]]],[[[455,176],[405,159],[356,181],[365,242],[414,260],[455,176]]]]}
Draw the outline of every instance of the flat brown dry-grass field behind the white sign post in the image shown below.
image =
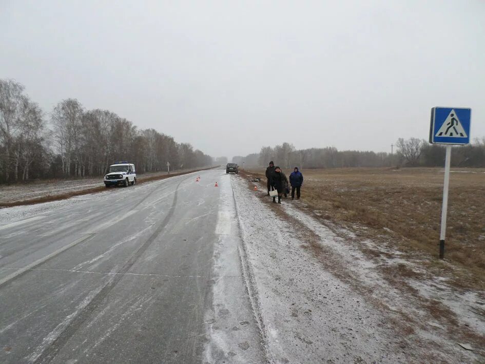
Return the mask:
{"type": "MultiPolygon", "coordinates": [[[[485,173],[452,170],[445,258],[457,269],[457,284],[483,288],[485,173]]],[[[302,200],[319,218],[353,229],[361,238],[385,240],[432,268],[444,267],[437,259],[442,168],[320,169],[304,170],[303,175],[302,200]]]]}

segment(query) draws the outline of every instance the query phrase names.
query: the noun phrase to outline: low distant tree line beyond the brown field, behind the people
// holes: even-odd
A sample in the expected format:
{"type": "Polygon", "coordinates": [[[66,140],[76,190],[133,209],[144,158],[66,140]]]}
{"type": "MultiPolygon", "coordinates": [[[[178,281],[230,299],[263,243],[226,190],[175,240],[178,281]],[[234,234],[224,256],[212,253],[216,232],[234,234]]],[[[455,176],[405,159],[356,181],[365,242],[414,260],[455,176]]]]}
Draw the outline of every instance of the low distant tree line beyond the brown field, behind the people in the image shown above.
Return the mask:
{"type": "MultiPolygon", "coordinates": [[[[266,166],[275,161],[282,168],[337,167],[401,167],[444,166],[445,146],[429,144],[423,139],[402,139],[393,153],[337,150],[335,147],[296,149],[291,143],[264,146],[259,153],[232,157],[232,162],[244,166],[266,166]]],[[[485,167],[485,138],[471,144],[453,147],[451,165],[455,167],[485,167]]]]}

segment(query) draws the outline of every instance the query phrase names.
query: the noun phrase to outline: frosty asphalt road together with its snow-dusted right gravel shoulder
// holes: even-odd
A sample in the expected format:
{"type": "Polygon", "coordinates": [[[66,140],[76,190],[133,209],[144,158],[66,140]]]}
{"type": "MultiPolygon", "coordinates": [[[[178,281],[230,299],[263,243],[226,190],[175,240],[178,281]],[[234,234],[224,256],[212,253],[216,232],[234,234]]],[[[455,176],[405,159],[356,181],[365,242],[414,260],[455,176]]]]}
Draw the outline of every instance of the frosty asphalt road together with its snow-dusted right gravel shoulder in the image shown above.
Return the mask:
{"type": "Polygon", "coordinates": [[[197,175],[0,210],[0,362],[476,359],[439,325],[404,337],[422,311],[298,208],[197,175]]]}

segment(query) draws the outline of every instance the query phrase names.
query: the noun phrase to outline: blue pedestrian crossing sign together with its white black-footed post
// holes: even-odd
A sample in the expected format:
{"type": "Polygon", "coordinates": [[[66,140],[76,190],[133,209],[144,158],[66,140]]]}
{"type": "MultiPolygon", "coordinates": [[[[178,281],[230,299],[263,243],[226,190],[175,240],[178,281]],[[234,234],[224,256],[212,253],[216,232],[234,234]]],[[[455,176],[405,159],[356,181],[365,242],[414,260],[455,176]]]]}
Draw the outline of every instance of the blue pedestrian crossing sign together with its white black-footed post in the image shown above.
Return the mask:
{"type": "Polygon", "coordinates": [[[447,146],[444,161],[443,204],[441,206],[441,229],[439,258],[444,258],[444,238],[447,230],[448,191],[450,189],[451,146],[470,143],[472,109],[462,107],[433,107],[431,109],[430,143],[447,146]]]}

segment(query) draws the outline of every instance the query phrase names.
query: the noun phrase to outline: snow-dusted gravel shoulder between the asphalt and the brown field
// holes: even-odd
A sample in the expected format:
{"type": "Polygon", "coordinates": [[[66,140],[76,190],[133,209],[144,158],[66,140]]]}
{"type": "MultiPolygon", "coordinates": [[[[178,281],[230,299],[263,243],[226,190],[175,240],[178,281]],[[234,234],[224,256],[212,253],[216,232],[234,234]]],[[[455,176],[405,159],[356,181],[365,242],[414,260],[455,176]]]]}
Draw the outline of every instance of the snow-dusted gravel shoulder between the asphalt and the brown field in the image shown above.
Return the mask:
{"type": "MultiPolygon", "coordinates": [[[[288,200],[271,204],[265,191],[254,191],[243,177],[233,185],[274,360],[473,362],[480,357],[479,335],[448,335],[452,328],[429,315],[425,302],[391,284],[353,245],[351,232],[336,234],[288,200]],[[461,339],[478,350],[465,351],[456,342],[461,339]]],[[[479,321],[473,324],[481,327],[479,321]]]]}

